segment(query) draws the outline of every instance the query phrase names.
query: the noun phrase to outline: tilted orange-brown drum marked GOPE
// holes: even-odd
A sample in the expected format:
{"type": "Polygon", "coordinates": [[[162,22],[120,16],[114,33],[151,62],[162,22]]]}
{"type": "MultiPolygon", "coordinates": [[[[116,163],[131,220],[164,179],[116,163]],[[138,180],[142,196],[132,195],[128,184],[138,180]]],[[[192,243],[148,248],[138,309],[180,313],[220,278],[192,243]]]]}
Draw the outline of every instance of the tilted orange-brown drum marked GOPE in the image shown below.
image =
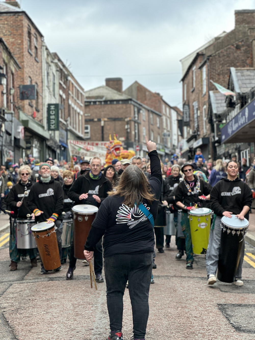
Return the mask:
{"type": "Polygon", "coordinates": [[[41,222],[34,225],[32,233],[35,238],[37,248],[46,270],[54,270],[61,266],[55,223],[41,222]]]}

